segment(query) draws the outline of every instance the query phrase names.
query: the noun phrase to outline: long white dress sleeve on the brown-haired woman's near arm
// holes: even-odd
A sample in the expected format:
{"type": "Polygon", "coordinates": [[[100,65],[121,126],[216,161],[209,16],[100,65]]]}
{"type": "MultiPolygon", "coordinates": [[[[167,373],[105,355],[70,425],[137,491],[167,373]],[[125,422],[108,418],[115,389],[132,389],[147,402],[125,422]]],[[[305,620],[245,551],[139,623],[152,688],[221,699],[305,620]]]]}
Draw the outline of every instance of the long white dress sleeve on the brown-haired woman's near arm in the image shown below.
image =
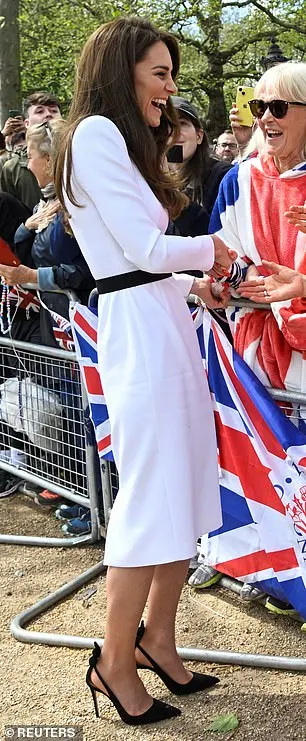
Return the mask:
{"type": "Polygon", "coordinates": [[[82,121],[73,137],[72,161],[72,187],[74,183],[77,186],[77,200],[80,197],[79,202],[86,205],[86,197],[91,199],[125,257],[135,266],[151,273],[205,271],[212,267],[211,237],[164,235],[150,217],[124,138],[112,121],[103,116],[82,121]]]}

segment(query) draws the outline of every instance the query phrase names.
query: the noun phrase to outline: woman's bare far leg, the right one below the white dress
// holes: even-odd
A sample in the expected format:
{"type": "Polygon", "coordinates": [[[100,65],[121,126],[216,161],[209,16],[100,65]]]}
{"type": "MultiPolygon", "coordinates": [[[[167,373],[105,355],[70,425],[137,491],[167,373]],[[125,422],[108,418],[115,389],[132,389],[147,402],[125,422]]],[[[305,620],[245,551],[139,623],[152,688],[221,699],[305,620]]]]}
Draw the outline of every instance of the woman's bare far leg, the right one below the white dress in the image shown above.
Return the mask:
{"type": "MultiPolygon", "coordinates": [[[[172,679],[181,684],[186,684],[192,677],[175,647],[175,618],[188,567],[189,560],[155,566],[149,592],[146,630],[141,639],[141,645],[146,651],[172,679]]],[[[137,649],[136,658],[139,663],[149,665],[137,649]]]]}

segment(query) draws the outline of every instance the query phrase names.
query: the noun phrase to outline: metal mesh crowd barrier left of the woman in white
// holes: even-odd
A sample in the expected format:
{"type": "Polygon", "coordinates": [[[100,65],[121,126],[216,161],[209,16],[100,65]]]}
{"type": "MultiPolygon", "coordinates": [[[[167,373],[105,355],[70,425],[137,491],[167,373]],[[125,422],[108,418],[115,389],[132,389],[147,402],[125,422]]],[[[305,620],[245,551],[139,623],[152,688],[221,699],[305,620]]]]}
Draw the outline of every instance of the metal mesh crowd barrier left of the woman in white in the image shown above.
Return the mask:
{"type": "Polygon", "coordinates": [[[18,491],[35,499],[48,489],[87,507],[91,516],[86,535],[1,534],[0,543],[71,547],[97,541],[105,535],[101,474],[75,353],[0,336],[0,373],[0,469],[20,478],[18,491]],[[11,447],[23,453],[17,463],[9,459],[11,447]]]}

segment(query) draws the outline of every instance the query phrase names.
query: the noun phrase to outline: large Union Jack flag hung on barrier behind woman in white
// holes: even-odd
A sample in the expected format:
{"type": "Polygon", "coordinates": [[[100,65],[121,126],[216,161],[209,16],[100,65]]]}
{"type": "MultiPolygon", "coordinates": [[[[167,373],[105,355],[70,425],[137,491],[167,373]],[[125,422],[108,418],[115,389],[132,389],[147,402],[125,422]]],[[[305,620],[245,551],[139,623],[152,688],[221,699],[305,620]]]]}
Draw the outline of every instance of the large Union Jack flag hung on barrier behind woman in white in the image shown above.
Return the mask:
{"type": "MultiPolygon", "coordinates": [[[[223,525],[208,561],[288,600],[306,618],[306,435],[285,416],[207,311],[193,312],[219,448],[223,525]]],[[[97,310],[71,310],[99,454],[112,458],[98,372],[97,310]]],[[[205,420],[203,420],[205,424],[205,420]]]]}

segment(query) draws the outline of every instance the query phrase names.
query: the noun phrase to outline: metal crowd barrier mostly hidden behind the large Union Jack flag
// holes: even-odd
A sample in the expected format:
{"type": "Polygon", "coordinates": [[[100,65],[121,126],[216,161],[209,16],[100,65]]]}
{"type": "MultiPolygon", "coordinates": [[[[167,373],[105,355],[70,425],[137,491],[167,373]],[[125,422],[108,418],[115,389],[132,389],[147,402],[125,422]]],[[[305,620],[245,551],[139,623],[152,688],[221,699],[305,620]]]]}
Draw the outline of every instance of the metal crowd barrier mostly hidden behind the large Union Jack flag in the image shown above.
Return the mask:
{"type": "MultiPolygon", "coordinates": [[[[243,300],[234,302],[241,305],[243,300]]],[[[247,306],[250,306],[250,302],[246,302],[247,306]]],[[[262,307],[258,304],[253,305],[254,308],[267,308],[266,305],[262,307]]],[[[290,393],[282,391],[280,389],[268,389],[271,396],[277,400],[282,401],[282,406],[288,404],[288,409],[292,409],[292,403],[305,403],[306,397],[303,394],[290,393]]],[[[292,414],[291,414],[292,418],[292,414]]],[[[105,522],[108,522],[109,513],[116,497],[119,481],[118,474],[115,464],[109,461],[104,461],[103,470],[103,501],[104,501],[104,513],[105,522]]],[[[1,539],[0,539],[1,542],[1,539]]],[[[78,540],[79,542],[79,540],[78,540]]],[[[47,595],[35,605],[27,608],[23,612],[19,613],[11,623],[11,633],[19,641],[24,643],[37,643],[52,646],[67,646],[71,648],[92,648],[93,641],[97,640],[94,637],[84,638],[83,636],[58,634],[58,633],[45,633],[35,632],[25,629],[32,620],[39,615],[44,614],[50,607],[55,606],[61,602],[67,596],[73,594],[77,589],[87,584],[94,578],[103,574],[106,567],[103,563],[98,563],[91,567],[83,574],[80,574],[77,578],[71,582],[64,584],[62,587],[57,589],[52,594],[47,595]]],[[[219,584],[231,589],[236,593],[240,593],[242,584],[229,577],[222,577],[219,584]]],[[[103,640],[99,641],[100,645],[103,645],[103,640]]],[[[213,662],[217,664],[231,664],[240,666],[251,666],[251,667],[263,667],[266,669],[282,669],[287,671],[306,671],[306,659],[292,657],[292,656],[274,656],[268,654],[248,654],[235,651],[222,651],[222,650],[206,650],[202,648],[178,648],[178,653],[182,659],[187,661],[202,661],[202,662],[213,662]]]]}

